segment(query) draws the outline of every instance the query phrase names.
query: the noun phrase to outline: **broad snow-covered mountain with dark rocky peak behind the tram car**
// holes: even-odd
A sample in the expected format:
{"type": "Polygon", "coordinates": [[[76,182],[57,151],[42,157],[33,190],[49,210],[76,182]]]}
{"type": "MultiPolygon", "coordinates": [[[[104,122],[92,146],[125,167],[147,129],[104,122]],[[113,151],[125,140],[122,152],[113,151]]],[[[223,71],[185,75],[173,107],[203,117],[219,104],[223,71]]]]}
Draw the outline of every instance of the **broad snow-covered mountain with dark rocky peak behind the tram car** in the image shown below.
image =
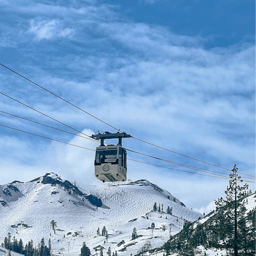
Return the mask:
{"type": "Polygon", "coordinates": [[[92,254],[103,246],[104,252],[110,247],[118,255],[134,255],[146,243],[152,248],[163,245],[169,239],[170,227],[175,234],[185,220],[203,217],[147,180],[89,186],[62,180],[54,173],[0,186],[0,203],[0,243],[9,232],[24,243],[51,238],[54,252],[65,248],[64,253],[69,255],[77,255],[83,242],[92,254]],[[161,212],[152,212],[154,203],[161,205],[161,212]],[[168,206],[172,214],[166,213],[168,206]],[[56,234],[50,225],[52,220],[57,222],[56,234]],[[149,228],[152,222],[153,233],[149,228]],[[97,235],[97,229],[101,231],[103,226],[108,231],[108,241],[97,235]],[[134,227],[138,238],[131,240],[134,227]]]}

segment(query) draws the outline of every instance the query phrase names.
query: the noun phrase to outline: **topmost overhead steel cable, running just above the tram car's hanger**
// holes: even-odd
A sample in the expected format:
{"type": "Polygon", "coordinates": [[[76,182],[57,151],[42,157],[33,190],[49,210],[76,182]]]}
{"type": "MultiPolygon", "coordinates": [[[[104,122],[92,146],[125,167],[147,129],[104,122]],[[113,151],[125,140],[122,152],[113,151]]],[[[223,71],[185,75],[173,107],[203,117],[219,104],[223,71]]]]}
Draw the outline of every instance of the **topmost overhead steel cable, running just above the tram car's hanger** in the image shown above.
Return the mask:
{"type": "MultiPolygon", "coordinates": [[[[2,63],[0,63],[0,65],[2,65],[3,67],[5,67],[5,68],[9,69],[9,70],[10,70],[10,71],[12,71],[13,73],[15,73],[15,74],[17,74],[17,75],[19,75],[19,76],[21,76],[21,77],[25,78],[27,81],[29,81],[29,82],[31,82],[31,83],[33,83],[33,84],[35,84],[36,86],[38,86],[38,87],[42,88],[43,90],[45,90],[45,91],[47,91],[47,92],[51,93],[51,94],[52,94],[52,95],[54,95],[55,97],[57,97],[57,98],[59,98],[59,99],[61,99],[61,100],[65,101],[65,102],[69,103],[69,104],[70,104],[70,105],[72,105],[73,107],[75,107],[75,108],[77,108],[77,109],[79,109],[79,110],[83,111],[84,113],[86,113],[86,114],[88,114],[88,115],[90,115],[90,116],[94,117],[95,119],[99,120],[100,122],[102,122],[102,123],[104,123],[104,124],[107,124],[108,126],[112,127],[113,129],[115,129],[115,130],[117,130],[117,131],[121,131],[120,129],[117,129],[116,127],[114,127],[114,126],[112,126],[112,125],[108,124],[107,122],[102,121],[100,118],[98,118],[98,117],[96,117],[96,116],[93,116],[92,114],[88,113],[87,111],[83,110],[82,108],[77,107],[77,106],[76,106],[76,105],[74,105],[73,103],[71,103],[71,102],[69,102],[69,101],[67,101],[67,100],[65,100],[65,99],[63,99],[63,98],[61,98],[61,97],[60,97],[60,96],[58,96],[57,94],[55,94],[55,93],[53,93],[53,92],[51,92],[51,91],[49,91],[49,90],[45,89],[43,86],[41,86],[41,85],[39,85],[39,84],[36,84],[35,82],[31,81],[31,80],[30,80],[30,79],[28,79],[27,77],[22,76],[21,74],[19,74],[18,72],[16,72],[16,71],[12,70],[11,68],[6,67],[6,66],[5,66],[5,65],[3,65],[2,63]]],[[[212,166],[215,166],[215,167],[221,168],[221,169],[225,169],[225,170],[231,171],[230,169],[227,169],[227,168],[225,168],[225,167],[221,167],[221,166],[218,166],[218,165],[214,165],[214,164],[211,164],[211,163],[207,163],[207,162],[201,161],[201,160],[199,160],[199,159],[196,159],[196,158],[193,158],[193,157],[189,157],[189,156],[186,156],[186,155],[183,155],[183,154],[177,153],[177,152],[175,152],[175,151],[172,151],[172,150],[169,150],[169,149],[166,149],[166,148],[163,148],[163,147],[160,147],[160,146],[154,145],[153,143],[149,143],[149,142],[144,141],[144,140],[140,140],[140,139],[135,138],[135,137],[132,137],[132,138],[133,138],[133,139],[135,139],[135,140],[139,140],[139,141],[141,141],[141,142],[147,143],[148,145],[151,145],[151,146],[154,146],[154,147],[158,147],[158,148],[161,148],[161,149],[167,150],[167,151],[172,152],[172,153],[174,153],[174,154],[178,154],[178,155],[180,155],[180,156],[184,156],[184,157],[187,157],[187,158],[193,159],[193,160],[198,161],[198,162],[202,162],[202,163],[209,164],[209,165],[212,165],[212,166]]]]}

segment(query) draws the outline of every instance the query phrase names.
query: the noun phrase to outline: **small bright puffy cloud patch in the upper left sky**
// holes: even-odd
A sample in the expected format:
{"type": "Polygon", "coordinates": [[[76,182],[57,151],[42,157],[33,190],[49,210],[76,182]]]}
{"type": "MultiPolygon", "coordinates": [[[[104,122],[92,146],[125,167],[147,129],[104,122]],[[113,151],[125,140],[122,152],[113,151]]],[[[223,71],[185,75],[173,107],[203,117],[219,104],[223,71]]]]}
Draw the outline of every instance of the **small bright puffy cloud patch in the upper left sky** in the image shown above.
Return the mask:
{"type": "Polygon", "coordinates": [[[64,28],[63,22],[58,19],[30,21],[28,33],[34,34],[37,40],[55,39],[55,38],[70,38],[74,35],[75,30],[64,28]]]}

